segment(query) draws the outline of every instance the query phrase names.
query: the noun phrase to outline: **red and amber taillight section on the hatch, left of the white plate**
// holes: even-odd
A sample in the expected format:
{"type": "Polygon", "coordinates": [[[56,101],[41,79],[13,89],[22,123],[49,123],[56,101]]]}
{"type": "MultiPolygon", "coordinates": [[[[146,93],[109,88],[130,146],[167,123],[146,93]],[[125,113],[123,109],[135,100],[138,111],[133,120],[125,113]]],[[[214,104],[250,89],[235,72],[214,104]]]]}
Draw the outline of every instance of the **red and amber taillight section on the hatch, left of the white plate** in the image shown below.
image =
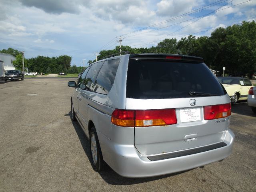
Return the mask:
{"type": "Polygon", "coordinates": [[[135,126],[160,126],[177,123],[175,109],[136,110],[135,126]]]}

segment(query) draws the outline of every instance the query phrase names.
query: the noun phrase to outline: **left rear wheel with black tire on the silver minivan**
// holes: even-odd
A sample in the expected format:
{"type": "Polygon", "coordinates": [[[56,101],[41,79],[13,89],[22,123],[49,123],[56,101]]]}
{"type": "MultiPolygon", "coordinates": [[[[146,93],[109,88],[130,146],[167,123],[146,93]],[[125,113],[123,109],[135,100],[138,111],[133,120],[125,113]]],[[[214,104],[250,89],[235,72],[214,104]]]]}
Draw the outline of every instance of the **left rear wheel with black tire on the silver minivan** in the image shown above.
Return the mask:
{"type": "Polygon", "coordinates": [[[102,158],[102,152],[100,149],[100,143],[96,133],[95,127],[92,127],[90,130],[90,162],[92,168],[96,172],[100,172],[104,167],[104,160],[102,158]]]}

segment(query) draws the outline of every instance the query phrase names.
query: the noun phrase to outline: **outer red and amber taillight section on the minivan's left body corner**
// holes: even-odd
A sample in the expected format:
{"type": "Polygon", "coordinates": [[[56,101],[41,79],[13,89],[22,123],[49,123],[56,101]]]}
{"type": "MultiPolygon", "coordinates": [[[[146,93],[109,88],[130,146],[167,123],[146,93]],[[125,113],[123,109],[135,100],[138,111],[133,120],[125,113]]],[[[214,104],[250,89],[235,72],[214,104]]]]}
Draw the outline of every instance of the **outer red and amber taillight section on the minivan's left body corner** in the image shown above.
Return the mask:
{"type": "Polygon", "coordinates": [[[122,127],[134,127],[134,110],[116,109],[112,113],[112,124],[122,127]]]}

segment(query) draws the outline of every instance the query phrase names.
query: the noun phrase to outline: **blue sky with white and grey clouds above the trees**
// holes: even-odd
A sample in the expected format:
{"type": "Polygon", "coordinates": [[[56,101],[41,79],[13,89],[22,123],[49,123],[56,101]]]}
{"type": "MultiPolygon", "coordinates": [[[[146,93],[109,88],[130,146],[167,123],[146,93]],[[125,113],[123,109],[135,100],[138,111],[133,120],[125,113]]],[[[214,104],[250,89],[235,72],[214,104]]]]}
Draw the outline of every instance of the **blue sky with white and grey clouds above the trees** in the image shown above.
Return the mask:
{"type": "Polygon", "coordinates": [[[256,0],[0,0],[0,7],[0,50],[66,54],[76,66],[113,49],[119,36],[122,45],[151,47],[256,19],[256,0]]]}

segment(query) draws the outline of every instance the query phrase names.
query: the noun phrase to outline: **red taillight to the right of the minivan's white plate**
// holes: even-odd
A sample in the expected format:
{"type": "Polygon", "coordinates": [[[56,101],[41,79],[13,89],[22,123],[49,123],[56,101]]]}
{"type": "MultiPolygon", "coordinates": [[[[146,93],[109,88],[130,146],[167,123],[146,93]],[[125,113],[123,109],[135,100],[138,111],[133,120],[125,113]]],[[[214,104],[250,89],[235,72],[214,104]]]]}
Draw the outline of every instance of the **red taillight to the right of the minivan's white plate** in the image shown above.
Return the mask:
{"type": "Polygon", "coordinates": [[[204,106],[204,119],[212,120],[231,115],[231,103],[221,105],[204,106]]]}

